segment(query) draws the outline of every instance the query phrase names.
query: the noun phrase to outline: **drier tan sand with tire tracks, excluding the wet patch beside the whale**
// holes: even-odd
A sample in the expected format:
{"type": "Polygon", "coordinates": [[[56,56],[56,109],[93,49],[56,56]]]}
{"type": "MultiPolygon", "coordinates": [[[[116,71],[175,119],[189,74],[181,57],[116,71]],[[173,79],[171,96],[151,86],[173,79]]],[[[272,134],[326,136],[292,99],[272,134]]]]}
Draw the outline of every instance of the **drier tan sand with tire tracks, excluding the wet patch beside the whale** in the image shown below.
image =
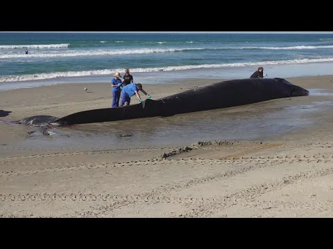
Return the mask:
{"type": "MultiPolygon", "coordinates": [[[[287,80],[306,89],[333,90],[333,76],[287,80]]],[[[161,98],[211,82],[144,89],[161,98]]],[[[110,93],[104,83],[3,91],[0,109],[12,113],[0,119],[110,107],[110,93]]],[[[274,103],[332,100],[309,95],[274,103]]],[[[0,216],[330,217],[333,111],[311,118],[310,128],[264,142],[205,140],[187,147],[76,151],[22,149],[33,127],[0,122],[0,216]]]]}

